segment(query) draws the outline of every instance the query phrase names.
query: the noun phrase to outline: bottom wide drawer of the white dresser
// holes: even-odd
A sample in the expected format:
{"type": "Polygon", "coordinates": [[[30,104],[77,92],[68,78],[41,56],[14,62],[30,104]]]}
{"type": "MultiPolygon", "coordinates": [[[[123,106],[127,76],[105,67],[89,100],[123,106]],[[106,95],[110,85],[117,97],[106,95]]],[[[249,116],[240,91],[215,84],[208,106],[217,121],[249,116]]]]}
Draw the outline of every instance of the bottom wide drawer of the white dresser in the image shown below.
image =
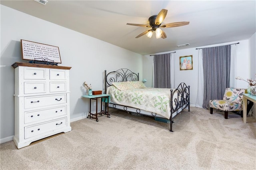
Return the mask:
{"type": "Polygon", "coordinates": [[[58,128],[66,127],[66,126],[67,126],[67,118],[64,117],[61,119],[56,119],[53,121],[48,121],[45,123],[24,127],[24,131],[25,131],[24,138],[25,139],[31,138],[40,134],[54,131],[58,128]]]}

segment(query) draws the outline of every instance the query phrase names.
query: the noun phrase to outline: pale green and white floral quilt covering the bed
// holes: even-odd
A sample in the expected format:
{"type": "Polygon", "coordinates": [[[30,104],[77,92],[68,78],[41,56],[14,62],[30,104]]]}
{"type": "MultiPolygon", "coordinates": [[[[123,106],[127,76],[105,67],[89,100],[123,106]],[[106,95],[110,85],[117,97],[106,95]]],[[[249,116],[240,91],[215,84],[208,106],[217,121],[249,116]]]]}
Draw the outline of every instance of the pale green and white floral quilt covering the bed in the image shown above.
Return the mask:
{"type": "Polygon", "coordinates": [[[170,119],[170,89],[146,87],[119,90],[112,85],[108,87],[107,94],[110,94],[112,103],[157,113],[170,119]]]}

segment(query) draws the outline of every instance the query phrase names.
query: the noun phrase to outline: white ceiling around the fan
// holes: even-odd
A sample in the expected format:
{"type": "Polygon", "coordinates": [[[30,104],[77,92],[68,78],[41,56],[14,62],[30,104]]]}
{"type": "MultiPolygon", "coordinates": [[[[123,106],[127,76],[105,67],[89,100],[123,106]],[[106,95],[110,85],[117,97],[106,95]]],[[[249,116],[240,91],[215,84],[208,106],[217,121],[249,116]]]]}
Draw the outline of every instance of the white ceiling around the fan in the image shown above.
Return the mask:
{"type": "Polygon", "coordinates": [[[33,0],[0,3],[142,55],[245,40],[256,32],[256,0],[48,0],[46,6],[33,0]],[[166,39],[135,38],[148,28],[126,23],[149,24],[148,18],[162,9],[168,10],[163,24],[190,24],[162,28],[166,39]],[[177,47],[186,43],[190,45],[177,47]]]}

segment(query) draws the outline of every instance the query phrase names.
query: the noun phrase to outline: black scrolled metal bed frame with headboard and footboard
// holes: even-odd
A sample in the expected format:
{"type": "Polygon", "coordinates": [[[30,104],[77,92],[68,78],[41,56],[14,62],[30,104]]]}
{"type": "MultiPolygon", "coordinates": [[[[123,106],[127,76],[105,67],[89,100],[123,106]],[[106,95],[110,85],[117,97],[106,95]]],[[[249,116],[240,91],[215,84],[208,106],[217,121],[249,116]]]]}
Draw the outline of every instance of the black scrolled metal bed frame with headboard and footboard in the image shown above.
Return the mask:
{"type": "MultiPolygon", "coordinates": [[[[105,82],[104,82],[105,83],[105,93],[107,91],[107,88],[109,86],[111,86],[112,83],[114,83],[114,82],[139,81],[139,73],[136,74],[126,68],[118,69],[116,71],[111,71],[109,73],[107,73],[107,71],[105,70],[104,75],[105,75],[105,82]]],[[[171,116],[169,119],[166,119],[166,118],[164,118],[164,119],[170,121],[170,131],[173,132],[172,123],[174,123],[173,120],[178,115],[178,113],[180,113],[182,110],[186,109],[187,107],[188,107],[188,111],[190,111],[190,86],[187,86],[185,83],[180,83],[176,89],[170,89],[170,95],[171,95],[171,99],[170,99],[171,116]],[[180,96],[180,98],[173,99],[174,93],[178,93],[178,96],[180,96]]],[[[110,99],[110,101],[111,101],[111,99],[110,99]]],[[[124,106],[124,105],[118,105],[115,103],[112,105],[109,105],[109,107],[118,109],[118,108],[116,108],[116,106],[121,107],[124,111],[134,112],[136,110],[136,113],[145,115],[142,113],[142,111],[143,111],[142,109],[137,109],[137,108],[128,107],[128,106],[124,106]]],[[[151,115],[147,115],[147,116],[151,116],[151,115]]],[[[157,116],[156,116],[156,114],[154,115],[152,113],[152,117],[157,117],[157,116]]]]}

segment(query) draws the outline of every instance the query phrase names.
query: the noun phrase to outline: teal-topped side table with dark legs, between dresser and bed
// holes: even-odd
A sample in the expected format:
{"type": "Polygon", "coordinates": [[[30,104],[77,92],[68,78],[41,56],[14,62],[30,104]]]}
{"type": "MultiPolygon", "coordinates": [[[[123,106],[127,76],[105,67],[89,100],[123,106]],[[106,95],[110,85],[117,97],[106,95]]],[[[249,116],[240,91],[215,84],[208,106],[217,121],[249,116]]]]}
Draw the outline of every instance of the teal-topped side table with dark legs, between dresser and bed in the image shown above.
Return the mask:
{"type": "MultiPolygon", "coordinates": [[[[108,103],[110,102],[110,95],[107,94],[101,94],[101,95],[83,95],[82,97],[90,99],[90,111],[89,111],[89,115],[88,117],[96,119],[96,122],[99,121],[98,119],[98,115],[102,115],[102,113],[104,115],[107,115],[108,118],[110,118],[110,114],[108,113],[108,103]],[[100,112],[98,112],[98,99],[100,100],[100,112]],[[92,100],[96,100],[96,113],[92,113],[91,111],[91,104],[92,104],[92,100]],[[102,109],[103,104],[105,103],[105,109],[102,109]]],[[[87,117],[87,118],[88,118],[87,117]]]]}

